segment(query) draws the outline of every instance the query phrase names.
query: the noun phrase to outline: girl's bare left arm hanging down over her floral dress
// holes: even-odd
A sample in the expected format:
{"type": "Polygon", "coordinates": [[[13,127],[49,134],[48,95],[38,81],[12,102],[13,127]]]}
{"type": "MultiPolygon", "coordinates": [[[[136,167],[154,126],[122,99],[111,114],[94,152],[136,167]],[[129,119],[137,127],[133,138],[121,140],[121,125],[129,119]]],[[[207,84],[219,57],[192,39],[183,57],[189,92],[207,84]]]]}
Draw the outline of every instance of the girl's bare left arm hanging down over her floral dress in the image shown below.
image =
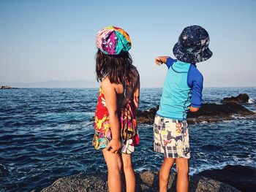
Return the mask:
{"type": "Polygon", "coordinates": [[[120,123],[118,119],[118,106],[116,90],[113,84],[110,83],[108,77],[102,81],[102,91],[105,95],[106,106],[108,108],[110,128],[112,134],[112,140],[105,148],[105,150],[110,150],[111,153],[118,153],[121,147],[120,141],[120,123]]]}

